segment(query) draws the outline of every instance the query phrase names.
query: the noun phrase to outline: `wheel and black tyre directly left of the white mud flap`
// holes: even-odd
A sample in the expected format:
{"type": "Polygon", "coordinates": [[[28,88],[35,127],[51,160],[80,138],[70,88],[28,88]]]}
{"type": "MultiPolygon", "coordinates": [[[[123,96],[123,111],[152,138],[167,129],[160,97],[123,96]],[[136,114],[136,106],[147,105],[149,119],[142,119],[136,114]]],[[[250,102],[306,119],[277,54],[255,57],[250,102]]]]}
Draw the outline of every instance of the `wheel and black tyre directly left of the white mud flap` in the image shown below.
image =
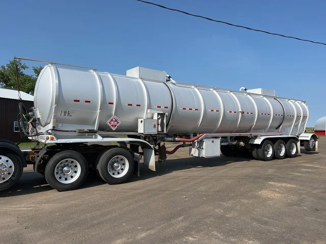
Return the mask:
{"type": "Polygon", "coordinates": [[[121,184],[131,176],[134,160],[126,149],[111,148],[100,156],[97,169],[101,178],[108,184],[121,184]]]}

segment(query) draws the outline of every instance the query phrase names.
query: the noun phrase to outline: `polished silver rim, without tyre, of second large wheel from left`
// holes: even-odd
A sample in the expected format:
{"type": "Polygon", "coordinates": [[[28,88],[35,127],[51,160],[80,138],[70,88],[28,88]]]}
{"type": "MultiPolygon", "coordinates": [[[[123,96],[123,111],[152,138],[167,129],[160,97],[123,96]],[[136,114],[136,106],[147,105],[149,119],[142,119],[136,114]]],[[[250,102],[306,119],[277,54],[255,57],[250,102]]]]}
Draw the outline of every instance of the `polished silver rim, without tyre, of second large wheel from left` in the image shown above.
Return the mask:
{"type": "Polygon", "coordinates": [[[80,165],[74,159],[64,159],[57,164],[55,175],[59,182],[70,184],[79,177],[80,165]]]}

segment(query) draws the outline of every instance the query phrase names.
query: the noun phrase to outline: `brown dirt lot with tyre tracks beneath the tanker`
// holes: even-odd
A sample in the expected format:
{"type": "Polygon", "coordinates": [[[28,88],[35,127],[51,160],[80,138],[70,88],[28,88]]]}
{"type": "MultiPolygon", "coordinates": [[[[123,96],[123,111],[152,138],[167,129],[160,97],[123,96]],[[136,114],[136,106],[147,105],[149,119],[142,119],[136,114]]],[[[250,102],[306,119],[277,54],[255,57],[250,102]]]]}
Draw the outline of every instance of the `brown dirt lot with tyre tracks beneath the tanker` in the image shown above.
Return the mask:
{"type": "Polygon", "coordinates": [[[61,193],[28,167],[0,196],[6,244],[326,243],[326,138],[319,153],[270,162],[182,148],[127,184],[90,177],[61,193]]]}

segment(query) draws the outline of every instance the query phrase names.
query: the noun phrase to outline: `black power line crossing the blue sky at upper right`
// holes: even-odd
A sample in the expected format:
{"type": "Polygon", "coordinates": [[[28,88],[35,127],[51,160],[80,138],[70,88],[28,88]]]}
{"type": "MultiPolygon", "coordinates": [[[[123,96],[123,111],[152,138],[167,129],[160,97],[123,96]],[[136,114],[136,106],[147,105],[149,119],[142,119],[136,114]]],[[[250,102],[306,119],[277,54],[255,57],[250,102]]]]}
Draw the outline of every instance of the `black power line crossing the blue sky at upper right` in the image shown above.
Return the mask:
{"type": "Polygon", "coordinates": [[[136,1],[142,2],[142,3],[145,3],[145,4],[151,4],[151,5],[154,5],[154,6],[163,8],[163,9],[168,9],[168,10],[179,12],[179,13],[183,13],[183,14],[186,14],[186,15],[190,15],[190,16],[194,16],[194,17],[198,17],[198,18],[203,18],[203,19],[207,19],[207,20],[210,20],[210,21],[218,22],[218,23],[223,23],[223,24],[231,25],[231,26],[234,26],[234,27],[249,29],[250,31],[262,32],[262,33],[269,34],[269,35],[280,36],[280,37],[285,37],[285,38],[291,38],[291,39],[295,39],[295,40],[299,40],[299,41],[311,42],[311,43],[314,43],[314,44],[321,44],[321,45],[325,45],[326,46],[326,43],[322,43],[322,42],[315,42],[315,41],[311,41],[311,40],[307,40],[307,39],[301,39],[301,38],[297,38],[297,37],[291,37],[291,36],[285,36],[285,35],[282,35],[282,34],[266,32],[266,31],[262,31],[261,29],[254,29],[254,28],[250,28],[250,27],[247,27],[247,26],[242,26],[242,25],[237,25],[237,24],[231,24],[231,23],[228,23],[228,22],[225,22],[225,21],[222,21],[222,20],[215,20],[215,19],[211,19],[211,18],[204,17],[204,16],[201,16],[201,15],[187,13],[187,12],[182,11],[182,10],[168,8],[168,7],[159,5],[159,4],[154,4],[154,3],[143,1],[143,0],[136,0],[136,1]]]}

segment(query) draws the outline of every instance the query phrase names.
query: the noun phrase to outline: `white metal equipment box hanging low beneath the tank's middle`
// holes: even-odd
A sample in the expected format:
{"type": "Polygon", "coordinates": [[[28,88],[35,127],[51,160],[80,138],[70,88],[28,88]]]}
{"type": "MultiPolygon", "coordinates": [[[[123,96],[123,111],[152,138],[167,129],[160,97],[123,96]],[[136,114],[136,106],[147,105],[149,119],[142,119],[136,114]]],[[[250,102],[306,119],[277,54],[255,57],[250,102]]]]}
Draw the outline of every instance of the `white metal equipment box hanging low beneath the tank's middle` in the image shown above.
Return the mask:
{"type": "Polygon", "coordinates": [[[204,139],[196,141],[193,147],[189,148],[189,155],[194,157],[212,158],[221,155],[221,139],[204,139]]]}

